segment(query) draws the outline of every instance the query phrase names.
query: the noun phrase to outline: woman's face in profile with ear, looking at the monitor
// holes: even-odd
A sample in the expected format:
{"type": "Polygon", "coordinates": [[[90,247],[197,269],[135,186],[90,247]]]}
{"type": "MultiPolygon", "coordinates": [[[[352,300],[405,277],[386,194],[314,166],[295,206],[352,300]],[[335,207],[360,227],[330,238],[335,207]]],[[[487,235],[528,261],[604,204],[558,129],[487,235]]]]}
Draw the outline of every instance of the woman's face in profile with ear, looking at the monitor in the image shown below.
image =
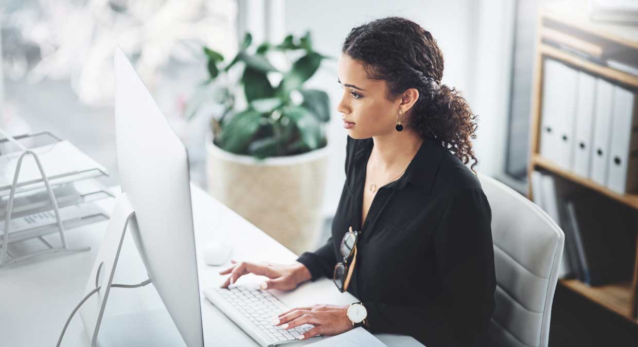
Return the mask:
{"type": "Polygon", "coordinates": [[[343,114],[343,127],[350,137],[369,138],[396,131],[401,98],[394,103],[385,98],[385,81],[369,80],[359,61],[342,54],[338,61],[338,82],[343,95],[337,110],[343,114]]]}

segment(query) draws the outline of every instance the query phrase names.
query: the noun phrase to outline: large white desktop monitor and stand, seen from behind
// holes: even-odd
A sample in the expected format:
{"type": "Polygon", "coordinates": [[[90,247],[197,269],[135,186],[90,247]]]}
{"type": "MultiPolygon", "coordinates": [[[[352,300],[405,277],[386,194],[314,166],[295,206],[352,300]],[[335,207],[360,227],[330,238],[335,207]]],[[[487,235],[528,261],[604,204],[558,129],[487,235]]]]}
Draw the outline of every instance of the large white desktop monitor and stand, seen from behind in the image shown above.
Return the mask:
{"type": "Polygon", "coordinates": [[[80,309],[82,321],[92,344],[99,344],[96,337],[100,336],[108,289],[128,229],[184,343],[204,346],[188,152],[119,47],[114,61],[115,138],[122,196],[116,202],[86,291],[101,289],[80,309]]]}

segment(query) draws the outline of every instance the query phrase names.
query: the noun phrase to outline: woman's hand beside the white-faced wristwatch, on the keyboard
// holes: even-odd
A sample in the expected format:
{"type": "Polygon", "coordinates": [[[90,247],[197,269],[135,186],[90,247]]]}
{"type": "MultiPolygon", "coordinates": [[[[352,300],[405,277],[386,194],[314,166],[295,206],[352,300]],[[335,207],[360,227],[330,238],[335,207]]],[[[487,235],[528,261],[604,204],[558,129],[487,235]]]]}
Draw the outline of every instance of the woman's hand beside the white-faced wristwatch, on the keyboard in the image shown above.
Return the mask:
{"type": "Polygon", "coordinates": [[[279,323],[274,325],[283,329],[293,329],[304,324],[312,324],[315,327],[308,330],[300,340],[317,335],[338,335],[352,329],[352,321],[346,315],[348,305],[313,305],[308,307],[295,307],[279,314],[279,323]]]}

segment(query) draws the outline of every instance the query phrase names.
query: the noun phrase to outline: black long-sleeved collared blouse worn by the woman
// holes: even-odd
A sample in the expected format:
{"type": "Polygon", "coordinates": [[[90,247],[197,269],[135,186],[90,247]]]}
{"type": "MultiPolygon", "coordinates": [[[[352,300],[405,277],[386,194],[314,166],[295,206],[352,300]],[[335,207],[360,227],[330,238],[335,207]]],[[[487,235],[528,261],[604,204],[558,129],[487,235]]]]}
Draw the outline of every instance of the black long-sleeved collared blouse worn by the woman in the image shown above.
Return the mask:
{"type": "Polygon", "coordinates": [[[477,177],[441,142],[426,139],[404,174],[378,188],[361,226],[374,144],[349,135],[347,143],[332,237],[297,261],[312,281],[332,279],[352,226],[362,235],[348,292],[366,307],[370,332],[409,335],[427,347],[482,345],[496,278],[492,212],[477,177]]]}

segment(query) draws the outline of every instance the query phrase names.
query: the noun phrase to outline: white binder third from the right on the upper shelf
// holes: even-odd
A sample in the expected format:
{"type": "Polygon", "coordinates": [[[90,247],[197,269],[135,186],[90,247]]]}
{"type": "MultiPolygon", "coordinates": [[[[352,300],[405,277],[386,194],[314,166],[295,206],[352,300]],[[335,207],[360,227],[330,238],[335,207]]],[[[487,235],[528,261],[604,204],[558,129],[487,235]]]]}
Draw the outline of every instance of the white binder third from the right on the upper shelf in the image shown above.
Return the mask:
{"type": "Polygon", "coordinates": [[[579,71],[572,171],[582,177],[590,177],[595,100],[596,78],[579,71]]]}

